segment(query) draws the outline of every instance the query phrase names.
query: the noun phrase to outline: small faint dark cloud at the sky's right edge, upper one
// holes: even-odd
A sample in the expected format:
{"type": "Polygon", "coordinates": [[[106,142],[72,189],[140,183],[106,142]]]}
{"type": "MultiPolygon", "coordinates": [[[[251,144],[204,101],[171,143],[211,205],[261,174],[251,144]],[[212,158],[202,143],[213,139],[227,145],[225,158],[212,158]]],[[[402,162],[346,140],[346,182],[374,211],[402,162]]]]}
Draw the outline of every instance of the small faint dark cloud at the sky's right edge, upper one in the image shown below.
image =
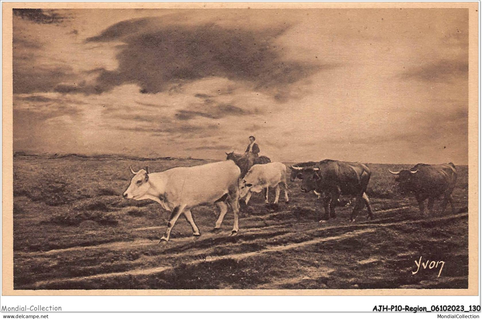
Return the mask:
{"type": "Polygon", "coordinates": [[[439,60],[415,67],[405,72],[402,77],[427,82],[450,82],[454,77],[469,75],[469,63],[467,61],[439,60]]]}

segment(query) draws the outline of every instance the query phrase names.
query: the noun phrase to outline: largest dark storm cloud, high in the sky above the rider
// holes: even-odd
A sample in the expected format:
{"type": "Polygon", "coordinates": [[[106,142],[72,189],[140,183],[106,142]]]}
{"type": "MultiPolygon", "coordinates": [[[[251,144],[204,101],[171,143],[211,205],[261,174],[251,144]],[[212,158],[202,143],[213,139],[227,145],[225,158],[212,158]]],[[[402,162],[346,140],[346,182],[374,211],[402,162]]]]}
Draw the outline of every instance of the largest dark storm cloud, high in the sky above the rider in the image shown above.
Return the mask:
{"type": "Polygon", "coordinates": [[[283,48],[275,39],[287,30],[286,25],[252,31],[216,24],[160,26],[160,21],[122,21],[86,40],[125,43],[117,54],[119,68],[104,71],[97,78],[97,90],[136,83],[143,93],[157,93],[205,77],[247,81],[255,89],[279,89],[323,67],[283,59],[283,48]]]}

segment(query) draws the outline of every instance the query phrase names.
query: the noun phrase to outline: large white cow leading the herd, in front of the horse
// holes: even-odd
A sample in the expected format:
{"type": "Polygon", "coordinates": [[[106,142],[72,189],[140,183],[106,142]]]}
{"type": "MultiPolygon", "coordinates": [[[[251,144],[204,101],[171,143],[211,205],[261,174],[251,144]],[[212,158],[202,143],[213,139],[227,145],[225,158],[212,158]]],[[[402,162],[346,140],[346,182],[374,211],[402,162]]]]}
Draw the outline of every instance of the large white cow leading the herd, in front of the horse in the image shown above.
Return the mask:
{"type": "Polygon", "coordinates": [[[233,161],[210,164],[174,167],[163,172],[149,173],[148,168],[135,172],[134,177],[124,192],[124,198],[143,200],[151,199],[172,212],[167,230],[161,241],[168,241],[171,230],[181,214],[191,224],[193,235],[200,236],[194,223],[191,208],[200,204],[217,204],[219,218],[214,230],[219,230],[229,204],[234,213],[234,225],[231,235],[238,233],[239,212],[239,176],[240,169],[233,161]]]}

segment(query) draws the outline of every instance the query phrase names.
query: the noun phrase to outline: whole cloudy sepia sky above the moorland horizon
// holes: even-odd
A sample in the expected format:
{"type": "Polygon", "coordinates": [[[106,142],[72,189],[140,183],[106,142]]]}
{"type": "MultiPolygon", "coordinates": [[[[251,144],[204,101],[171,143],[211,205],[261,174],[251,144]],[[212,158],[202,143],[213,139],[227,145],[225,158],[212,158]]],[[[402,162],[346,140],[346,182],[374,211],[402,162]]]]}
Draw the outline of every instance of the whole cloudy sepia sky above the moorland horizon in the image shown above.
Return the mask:
{"type": "Polygon", "coordinates": [[[467,9],[13,15],[13,149],[467,164],[467,9]]]}

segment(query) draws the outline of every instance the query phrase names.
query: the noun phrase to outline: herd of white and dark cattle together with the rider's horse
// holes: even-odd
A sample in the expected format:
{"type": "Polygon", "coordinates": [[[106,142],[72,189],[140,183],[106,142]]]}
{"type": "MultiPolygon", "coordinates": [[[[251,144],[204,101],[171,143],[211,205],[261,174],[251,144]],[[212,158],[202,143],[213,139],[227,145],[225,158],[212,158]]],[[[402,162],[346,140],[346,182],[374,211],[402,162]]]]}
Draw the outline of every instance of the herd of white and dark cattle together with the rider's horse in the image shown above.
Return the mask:
{"type": "MultiPolygon", "coordinates": [[[[301,191],[314,191],[324,207],[324,216],[320,222],[335,217],[335,207],[341,195],[355,197],[355,204],[350,215],[353,221],[363,205],[368,216],[373,218],[370,200],[366,189],[370,181],[371,171],[361,163],[341,162],[325,159],[320,162],[304,162],[289,167],[291,181],[301,179],[301,191]]],[[[234,214],[234,225],[231,235],[239,231],[239,200],[245,198],[248,204],[253,192],[264,189],[265,202],[268,204],[268,190],[275,188],[277,204],[280,197],[280,184],[284,188],[284,199],[288,198],[286,183],[286,166],[280,162],[271,162],[268,157],[260,156],[250,159],[244,155],[227,153],[227,160],[190,167],[174,167],[162,172],[149,173],[148,168],[134,171],[134,177],[123,197],[134,200],[151,199],[171,212],[167,230],[161,242],[167,242],[175,222],[184,214],[190,223],[194,236],[200,236],[194,223],[191,209],[201,204],[216,204],[219,217],[214,231],[221,228],[223,218],[231,207],[234,214]]],[[[420,211],[424,212],[424,201],[428,199],[428,209],[433,211],[434,200],[444,195],[442,210],[448,203],[453,212],[455,206],[451,193],[454,190],[457,172],[453,163],[441,165],[417,164],[409,170],[390,173],[396,175],[402,193],[412,193],[418,202],[420,211]]]]}

